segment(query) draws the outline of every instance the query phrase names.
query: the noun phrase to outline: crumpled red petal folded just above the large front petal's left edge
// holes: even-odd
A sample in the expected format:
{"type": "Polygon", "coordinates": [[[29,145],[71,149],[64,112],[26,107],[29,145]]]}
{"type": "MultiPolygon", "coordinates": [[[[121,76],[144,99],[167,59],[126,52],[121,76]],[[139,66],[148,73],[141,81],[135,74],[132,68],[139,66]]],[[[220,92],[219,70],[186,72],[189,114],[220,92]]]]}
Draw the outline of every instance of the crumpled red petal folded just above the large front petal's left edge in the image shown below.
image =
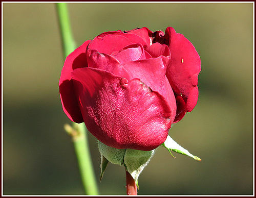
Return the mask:
{"type": "Polygon", "coordinates": [[[97,50],[87,49],[88,67],[109,71],[115,75],[130,79],[130,75],[125,68],[108,54],[100,54],[97,50]]]}

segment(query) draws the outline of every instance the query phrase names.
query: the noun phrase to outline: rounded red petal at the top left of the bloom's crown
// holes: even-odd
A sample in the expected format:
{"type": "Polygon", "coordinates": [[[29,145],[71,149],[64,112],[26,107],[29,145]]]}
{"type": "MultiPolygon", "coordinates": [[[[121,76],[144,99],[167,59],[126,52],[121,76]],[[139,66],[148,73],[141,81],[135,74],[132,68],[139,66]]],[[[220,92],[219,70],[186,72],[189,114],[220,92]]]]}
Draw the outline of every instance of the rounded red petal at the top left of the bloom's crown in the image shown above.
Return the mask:
{"type": "Polygon", "coordinates": [[[132,42],[122,35],[109,34],[104,37],[95,37],[88,45],[88,48],[97,50],[101,54],[111,55],[113,52],[119,52],[123,47],[132,44],[132,42]]]}

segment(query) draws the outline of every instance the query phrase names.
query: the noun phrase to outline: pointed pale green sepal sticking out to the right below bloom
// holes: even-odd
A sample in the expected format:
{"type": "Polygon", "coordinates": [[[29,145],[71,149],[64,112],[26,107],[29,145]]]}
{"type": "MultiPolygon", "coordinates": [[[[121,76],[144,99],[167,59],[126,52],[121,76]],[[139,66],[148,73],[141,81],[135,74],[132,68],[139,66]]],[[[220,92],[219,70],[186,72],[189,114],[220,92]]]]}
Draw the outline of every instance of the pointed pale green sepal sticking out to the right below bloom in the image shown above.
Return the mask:
{"type": "Polygon", "coordinates": [[[194,158],[195,160],[201,161],[199,157],[190,154],[187,150],[181,147],[176,141],[174,141],[170,136],[167,136],[167,139],[165,140],[164,143],[162,143],[162,145],[169,151],[169,153],[170,151],[173,151],[173,152],[194,158]]]}

